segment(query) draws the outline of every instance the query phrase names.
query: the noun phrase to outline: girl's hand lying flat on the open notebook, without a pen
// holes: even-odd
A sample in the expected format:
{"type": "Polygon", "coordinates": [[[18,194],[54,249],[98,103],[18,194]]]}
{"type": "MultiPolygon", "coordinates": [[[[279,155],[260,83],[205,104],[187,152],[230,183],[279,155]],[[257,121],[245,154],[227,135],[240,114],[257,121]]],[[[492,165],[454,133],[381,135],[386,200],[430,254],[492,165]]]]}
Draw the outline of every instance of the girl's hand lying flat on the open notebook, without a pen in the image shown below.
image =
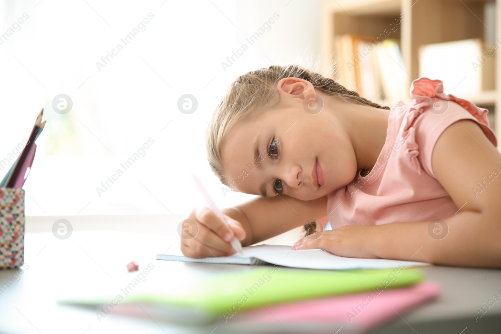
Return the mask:
{"type": "Polygon", "coordinates": [[[296,242],[292,249],[321,248],[338,256],[378,258],[370,250],[374,227],[377,226],[345,225],[332,231],[315,232],[296,242]]]}

